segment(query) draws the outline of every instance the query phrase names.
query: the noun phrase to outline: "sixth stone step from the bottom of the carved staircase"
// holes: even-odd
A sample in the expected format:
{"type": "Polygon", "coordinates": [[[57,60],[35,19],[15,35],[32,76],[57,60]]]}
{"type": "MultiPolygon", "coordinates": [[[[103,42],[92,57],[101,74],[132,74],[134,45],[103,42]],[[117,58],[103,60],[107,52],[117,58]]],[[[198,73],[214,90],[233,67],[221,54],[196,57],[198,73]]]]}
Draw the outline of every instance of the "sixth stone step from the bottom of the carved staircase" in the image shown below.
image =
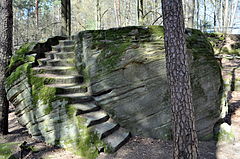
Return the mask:
{"type": "Polygon", "coordinates": [[[79,84],[50,84],[48,87],[56,88],[56,94],[86,93],[87,86],[79,84]]]}

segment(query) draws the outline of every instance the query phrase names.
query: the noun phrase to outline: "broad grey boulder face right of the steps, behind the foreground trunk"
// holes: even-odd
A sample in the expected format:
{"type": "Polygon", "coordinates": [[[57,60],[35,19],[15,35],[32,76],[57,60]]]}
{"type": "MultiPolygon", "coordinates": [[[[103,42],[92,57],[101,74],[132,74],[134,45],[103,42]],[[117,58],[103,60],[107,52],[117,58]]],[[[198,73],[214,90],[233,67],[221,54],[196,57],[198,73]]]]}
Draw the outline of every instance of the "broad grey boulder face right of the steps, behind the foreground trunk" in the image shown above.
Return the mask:
{"type": "MultiPolygon", "coordinates": [[[[187,30],[191,82],[200,139],[212,137],[220,117],[222,79],[204,35],[187,30]]],[[[171,108],[163,28],[126,27],[80,33],[78,57],[98,104],[133,135],[171,138],[171,108]]]]}

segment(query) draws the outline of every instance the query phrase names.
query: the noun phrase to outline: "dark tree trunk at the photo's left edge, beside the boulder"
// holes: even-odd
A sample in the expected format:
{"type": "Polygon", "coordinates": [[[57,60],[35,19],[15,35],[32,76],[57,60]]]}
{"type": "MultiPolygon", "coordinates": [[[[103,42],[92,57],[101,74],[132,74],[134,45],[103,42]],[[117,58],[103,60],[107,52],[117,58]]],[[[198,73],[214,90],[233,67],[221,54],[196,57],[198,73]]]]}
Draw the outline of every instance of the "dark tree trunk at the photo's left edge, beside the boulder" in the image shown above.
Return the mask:
{"type": "Polygon", "coordinates": [[[13,12],[12,0],[0,1],[0,132],[8,133],[8,107],[4,80],[6,68],[12,55],[13,12]]]}

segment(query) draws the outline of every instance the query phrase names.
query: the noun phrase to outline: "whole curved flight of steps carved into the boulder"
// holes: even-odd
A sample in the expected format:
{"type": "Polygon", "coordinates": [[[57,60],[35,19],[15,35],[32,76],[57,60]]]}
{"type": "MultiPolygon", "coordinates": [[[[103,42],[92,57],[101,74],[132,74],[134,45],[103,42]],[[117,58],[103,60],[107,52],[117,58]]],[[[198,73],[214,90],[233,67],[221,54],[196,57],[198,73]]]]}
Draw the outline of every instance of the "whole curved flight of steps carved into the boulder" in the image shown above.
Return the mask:
{"type": "Polygon", "coordinates": [[[37,77],[53,79],[46,84],[56,88],[56,96],[67,98],[69,104],[77,109],[77,116],[86,121],[86,126],[99,135],[112,151],[118,150],[130,137],[130,133],[115,123],[95,102],[84,83],[84,77],[75,68],[74,41],[62,40],[53,46],[45,58],[38,59],[34,67],[37,77]]]}

